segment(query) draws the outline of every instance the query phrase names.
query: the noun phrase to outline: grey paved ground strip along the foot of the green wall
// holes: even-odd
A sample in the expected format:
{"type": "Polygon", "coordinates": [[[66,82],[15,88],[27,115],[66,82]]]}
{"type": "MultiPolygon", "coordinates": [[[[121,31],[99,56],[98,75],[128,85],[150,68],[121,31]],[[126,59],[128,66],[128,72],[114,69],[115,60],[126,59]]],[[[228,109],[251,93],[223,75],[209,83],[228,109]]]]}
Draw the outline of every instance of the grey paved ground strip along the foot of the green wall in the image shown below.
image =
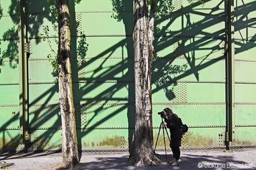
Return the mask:
{"type": "MultiPolygon", "coordinates": [[[[256,150],[235,150],[233,152],[223,151],[182,151],[179,167],[172,167],[168,161],[172,154],[157,152],[160,154],[162,163],[160,165],[145,165],[135,167],[128,163],[128,152],[124,153],[83,153],[80,163],[75,166],[79,169],[256,169],[256,150]]],[[[61,161],[61,153],[40,153],[40,154],[1,154],[1,165],[9,164],[1,169],[11,170],[39,170],[56,169],[61,161]],[[5,162],[5,164],[3,163],[5,162]],[[13,163],[13,165],[11,165],[13,163]]]]}

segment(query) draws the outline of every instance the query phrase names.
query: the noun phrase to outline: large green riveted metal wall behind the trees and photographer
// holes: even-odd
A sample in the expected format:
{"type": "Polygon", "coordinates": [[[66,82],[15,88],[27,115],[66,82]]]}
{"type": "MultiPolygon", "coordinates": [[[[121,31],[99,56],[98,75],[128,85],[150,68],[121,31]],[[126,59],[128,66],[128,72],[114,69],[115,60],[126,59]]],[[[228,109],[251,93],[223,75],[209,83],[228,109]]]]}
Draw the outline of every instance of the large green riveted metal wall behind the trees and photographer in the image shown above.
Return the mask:
{"type": "MultiPolygon", "coordinates": [[[[60,150],[57,77],[47,58],[50,47],[38,37],[43,26],[56,34],[57,23],[47,1],[27,0],[23,8],[19,2],[0,2],[0,148],[60,150]]],[[[170,107],[189,126],[184,149],[254,147],[256,1],[234,1],[234,49],[226,49],[226,0],[172,2],[156,16],[154,139],[161,123],[157,112],[170,107]],[[235,52],[231,73],[229,50],[235,52]]],[[[127,150],[135,125],[133,1],[70,1],[70,11],[79,150],[127,150]]],[[[48,40],[56,49],[54,38],[48,40]]],[[[164,148],[162,132],[157,148],[164,148]]]]}

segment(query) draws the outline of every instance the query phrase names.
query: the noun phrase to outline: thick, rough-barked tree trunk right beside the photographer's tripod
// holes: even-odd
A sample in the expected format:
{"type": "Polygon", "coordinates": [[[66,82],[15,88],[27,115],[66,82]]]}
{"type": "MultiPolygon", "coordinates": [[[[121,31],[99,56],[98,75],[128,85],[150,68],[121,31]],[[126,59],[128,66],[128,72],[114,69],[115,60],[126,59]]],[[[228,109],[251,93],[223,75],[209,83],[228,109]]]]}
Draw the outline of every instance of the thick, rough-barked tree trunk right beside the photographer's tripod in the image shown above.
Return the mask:
{"type": "MultiPolygon", "coordinates": [[[[155,14],[155,1],[152,2],[155,14]]],[[[135,132],[133,134],[130,159],[136,165],[151,163],[153,154],[152,127],[152,91],[151,71],[153,55],[154,15],[150,15],[148,24],[147,0],[135,1],[135,28],[133,31],[133,47],[135,49],[135,132]]],[[[154,163],[160,160],[154,156],[154,163]]]]}

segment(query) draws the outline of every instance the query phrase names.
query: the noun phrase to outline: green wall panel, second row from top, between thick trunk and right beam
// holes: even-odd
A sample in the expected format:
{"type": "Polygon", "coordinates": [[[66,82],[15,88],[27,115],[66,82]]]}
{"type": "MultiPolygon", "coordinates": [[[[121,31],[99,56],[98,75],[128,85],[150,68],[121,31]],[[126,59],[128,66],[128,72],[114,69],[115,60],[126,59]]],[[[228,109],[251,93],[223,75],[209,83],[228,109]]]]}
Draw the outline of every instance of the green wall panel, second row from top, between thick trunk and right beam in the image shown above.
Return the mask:
{"type": "Polygon", "coordinates": [[[187,13],[170,13],[169,15],[171,17],[170,19],[168,18],[168,20],[164,20],[158,25],[158,27],[166,30],[166,35],[196,38],[225,38],[224,16],[187,13]]]}

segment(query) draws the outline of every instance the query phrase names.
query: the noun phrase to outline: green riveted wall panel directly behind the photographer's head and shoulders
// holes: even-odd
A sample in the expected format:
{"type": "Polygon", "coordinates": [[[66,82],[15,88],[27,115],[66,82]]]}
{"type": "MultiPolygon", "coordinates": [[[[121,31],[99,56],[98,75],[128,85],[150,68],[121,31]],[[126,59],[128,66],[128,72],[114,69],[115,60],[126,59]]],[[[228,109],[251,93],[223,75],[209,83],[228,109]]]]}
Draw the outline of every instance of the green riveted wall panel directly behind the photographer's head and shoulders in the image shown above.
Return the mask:
{"type": "MultiPolygon", "coordinates": [[[[157,112],[169,107],[189,127],[225,127],[225,103],[153,103],[153,127],[159,126],[157,112]]],[[[190,128],[189,128],[190,131],[190,128]]]]}

